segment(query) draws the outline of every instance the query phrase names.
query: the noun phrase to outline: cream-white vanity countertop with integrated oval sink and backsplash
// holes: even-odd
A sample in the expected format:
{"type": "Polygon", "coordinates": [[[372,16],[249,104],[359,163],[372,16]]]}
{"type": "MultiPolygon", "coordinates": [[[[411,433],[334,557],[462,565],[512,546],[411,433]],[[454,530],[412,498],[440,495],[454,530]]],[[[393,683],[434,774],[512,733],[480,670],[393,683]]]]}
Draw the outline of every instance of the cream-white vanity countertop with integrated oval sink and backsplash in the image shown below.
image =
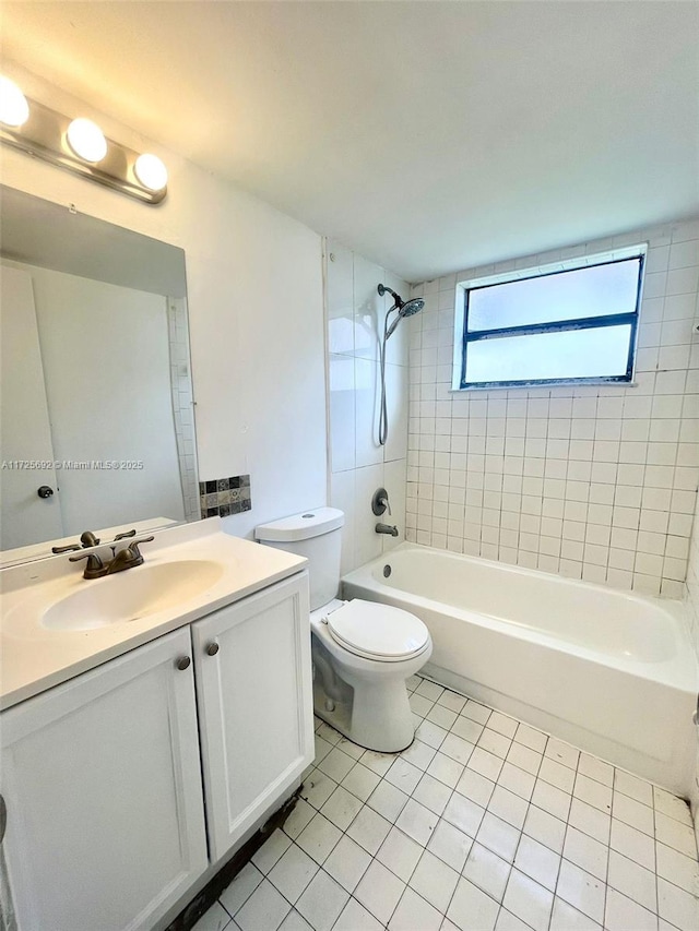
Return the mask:
{"type": "Polygon", "coordinates": [[[0,707],[301,572],[306,560],[223,532],[221,517],[158,530],[143,565],[86,580],[56,557],[0,570],[0,707]]]}

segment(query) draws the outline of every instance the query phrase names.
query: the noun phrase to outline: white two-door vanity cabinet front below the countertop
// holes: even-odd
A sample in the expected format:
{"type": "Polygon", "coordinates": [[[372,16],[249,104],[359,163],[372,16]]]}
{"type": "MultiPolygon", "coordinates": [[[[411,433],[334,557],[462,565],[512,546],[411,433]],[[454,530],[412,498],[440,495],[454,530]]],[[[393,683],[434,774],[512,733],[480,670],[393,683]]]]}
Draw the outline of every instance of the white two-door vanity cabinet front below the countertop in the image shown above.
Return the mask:
{"type": "Polygon", "coordinates": [[[3,712],[19,931],[151,931],[182,907],[300,781],[311,687],[296,572],[3,712]]]}

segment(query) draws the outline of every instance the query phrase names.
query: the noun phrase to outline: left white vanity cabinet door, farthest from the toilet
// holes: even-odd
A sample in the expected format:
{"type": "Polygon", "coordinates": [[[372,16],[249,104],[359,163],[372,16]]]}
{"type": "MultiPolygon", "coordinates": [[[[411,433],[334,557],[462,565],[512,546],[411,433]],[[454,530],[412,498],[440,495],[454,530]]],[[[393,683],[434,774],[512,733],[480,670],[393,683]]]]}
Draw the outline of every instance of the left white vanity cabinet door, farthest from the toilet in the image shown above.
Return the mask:
{"type": "Polygon", "coordinates": [[[151,929],[208,866],[188,628],[2,714],[19,931],[151,929]]]}

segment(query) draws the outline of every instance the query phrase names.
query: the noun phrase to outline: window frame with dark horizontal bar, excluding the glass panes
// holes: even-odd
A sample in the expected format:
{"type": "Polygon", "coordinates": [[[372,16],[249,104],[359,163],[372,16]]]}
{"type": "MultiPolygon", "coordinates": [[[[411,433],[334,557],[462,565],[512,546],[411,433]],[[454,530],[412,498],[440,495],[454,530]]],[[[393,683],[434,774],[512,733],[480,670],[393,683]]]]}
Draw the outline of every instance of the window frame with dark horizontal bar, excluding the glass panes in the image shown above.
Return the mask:
{"type": "Polygon", "coordinates": [[[454,351],[454,375],[458,374],[453,387],[457,391],[478,391],[493,389],[514,387],[541,387],[545,385],[569,385],[569,384],[630,384],[633,380],[633,366],[636,362],[636,349],[638,342],[638,324],[641,307],[641,293],[643,287],[643,271],[645,264],[647,244],[641,243],[630,249],[616,250],[614,255],[603,253],[589,255],[571,262],[556,263],[555,265],[542,266],[540,268],[528,268],[519,273],[488,276],[487,278],[475,278],[460,283],[457,286],[457,334],[459,341],[454,351]],[[623,253],[623,254],[619,254],[623,253]],[[568,272],[582,271],[584,268],[599,267],[601,265],[614,265],[620,262],[638,261],[638,283],[636,288],[636,303],[633,310],[624,313],[607,314],[604,317],[582,317],[573,320],[549,321],[547,323],[526,323],[517,326],[507,326],[494,330],[481,330],[469,332],[469,297],[472,291],[485,288],[498,287],[499,285],[514,284],[516,282],[531,278],[543,278],[549,275],[561,275],[568,272]],[[565,267],[561,267],[561,264],[565,267]],[[462,294],[462,307],[459,308],[459,291],[462,294]],[[459,321],[461,318],[461,325],[459,321]],[[498,339],[503,336],[524,336],[541,333],[560,333],[569,330],[602,330],[607,326],[630,325],[629,353],[626,371],[618,375],[585,375],[581,378],[557,378],[557,379],[526,379],[519,381],[466,381],[466,358],[469,344],[478,343],[482,339],[498,339]],[[459,366],[459,368],[458,368],[459,366]]]}

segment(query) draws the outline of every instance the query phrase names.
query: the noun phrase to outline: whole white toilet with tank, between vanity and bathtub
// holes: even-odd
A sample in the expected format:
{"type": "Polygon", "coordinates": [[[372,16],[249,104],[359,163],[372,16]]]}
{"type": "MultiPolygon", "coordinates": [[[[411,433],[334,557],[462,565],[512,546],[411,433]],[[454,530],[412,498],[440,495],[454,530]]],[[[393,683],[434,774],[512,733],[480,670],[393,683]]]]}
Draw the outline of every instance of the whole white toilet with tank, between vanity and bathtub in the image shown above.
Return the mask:
{"type": "Polygon", "coordinates": [[[415,728],[405,680],[427,663],[433,642],[407,611],[335,598],[344,514],[318,508],[257,527],[268,546],[308,559],[316,714],[369,750],[394,753],[415,728]]]}

